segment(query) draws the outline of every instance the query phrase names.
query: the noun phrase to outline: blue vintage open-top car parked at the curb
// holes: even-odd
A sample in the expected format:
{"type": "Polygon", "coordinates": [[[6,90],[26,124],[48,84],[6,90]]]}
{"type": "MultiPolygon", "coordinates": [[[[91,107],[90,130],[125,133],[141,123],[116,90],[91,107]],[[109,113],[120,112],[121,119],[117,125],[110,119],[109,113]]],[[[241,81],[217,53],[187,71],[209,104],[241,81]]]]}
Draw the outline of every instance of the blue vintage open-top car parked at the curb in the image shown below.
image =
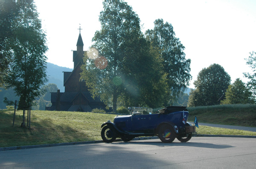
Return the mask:
{"type": "Polygon", "coordinates": [[[164,143],[171,143],[177,138],[181,142],[189,141],[195,134],[195,126],[188,123],[189,112],[186,107],[168,106],[152,114],[144,107],[129,107],[131,115],[116,116],[101,127],[103,141],[111,143],[116,138],[131,141],[139,136],[157,135],[164,143]]]}

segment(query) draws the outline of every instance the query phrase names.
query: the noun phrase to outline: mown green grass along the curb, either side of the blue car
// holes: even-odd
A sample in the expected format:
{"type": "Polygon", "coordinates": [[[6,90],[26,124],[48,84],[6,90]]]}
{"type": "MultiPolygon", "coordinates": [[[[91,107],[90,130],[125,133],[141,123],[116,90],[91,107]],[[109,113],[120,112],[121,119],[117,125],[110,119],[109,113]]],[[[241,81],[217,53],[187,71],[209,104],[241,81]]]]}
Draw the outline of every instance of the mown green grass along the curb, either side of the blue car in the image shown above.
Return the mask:
{"type": "MultiPolygon", "coordinates": [[[[31,111],[31,129],[20,127],[23,112],[0,110],[0,147],[102,140],[101,124],[116,115],[82,112],[31,111]]],[[[198,118],[200,120],[200,118],[198,118]]],[[[200,121],[199,121],[200,122],[200,121]]],[[[26,124],[27,125],[27,124],[26,124]]],[[[256,135],[256,132],[199,126],[198,134],[256,135]]]]}

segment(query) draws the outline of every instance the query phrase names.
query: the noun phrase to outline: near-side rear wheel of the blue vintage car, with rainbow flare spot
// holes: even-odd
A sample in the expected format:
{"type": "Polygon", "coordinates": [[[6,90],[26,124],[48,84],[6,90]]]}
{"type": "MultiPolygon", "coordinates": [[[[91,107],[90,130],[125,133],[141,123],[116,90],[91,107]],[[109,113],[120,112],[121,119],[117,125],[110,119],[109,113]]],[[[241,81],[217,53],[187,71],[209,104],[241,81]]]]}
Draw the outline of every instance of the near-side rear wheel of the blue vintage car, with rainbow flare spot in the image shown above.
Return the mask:
{"type": "Polygon", "coordinates": [[[176,133],[172,126],[163,124],[160,126],[158,136],[163,143],[172,143],[176,137],[176,133]]]}

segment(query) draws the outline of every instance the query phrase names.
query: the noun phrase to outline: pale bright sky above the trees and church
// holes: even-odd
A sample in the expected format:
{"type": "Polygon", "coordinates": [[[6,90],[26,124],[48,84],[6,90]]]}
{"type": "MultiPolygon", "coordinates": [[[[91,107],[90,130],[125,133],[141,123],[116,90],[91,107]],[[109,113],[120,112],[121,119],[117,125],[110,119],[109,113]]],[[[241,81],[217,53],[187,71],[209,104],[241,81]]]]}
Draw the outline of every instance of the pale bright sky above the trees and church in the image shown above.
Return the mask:
{"type": "MultiPolygon", "coordinates": [[[[81,26],[84,51],[100,30],[103,0],[34,0],[47,34],[47,62],[73,68],[73,53],[81,26]]],[[[125,0],[133,8],[143,33],[162,18],[172,24],[176,37],[191,59],[191,88],[198,73],[210,65],[221,65],[231,76],[247,82],[251,72],[245,58],[256,51],[256,0],[125,0]]]]}

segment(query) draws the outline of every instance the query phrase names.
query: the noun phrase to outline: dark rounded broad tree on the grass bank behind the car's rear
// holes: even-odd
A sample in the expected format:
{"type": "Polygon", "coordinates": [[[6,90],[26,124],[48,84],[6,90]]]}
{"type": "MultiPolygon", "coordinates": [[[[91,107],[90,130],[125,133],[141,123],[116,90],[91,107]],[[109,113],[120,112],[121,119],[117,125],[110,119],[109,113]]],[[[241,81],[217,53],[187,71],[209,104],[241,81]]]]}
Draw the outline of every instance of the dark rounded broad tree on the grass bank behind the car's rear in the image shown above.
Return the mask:
{"type": "Polygon", "coordinates": [[[230,76],[221,65],[213,64],[202,69],[195,80],[195,90],[190,92],[189,107],[220,104],[230,85],[230,76]]]}

